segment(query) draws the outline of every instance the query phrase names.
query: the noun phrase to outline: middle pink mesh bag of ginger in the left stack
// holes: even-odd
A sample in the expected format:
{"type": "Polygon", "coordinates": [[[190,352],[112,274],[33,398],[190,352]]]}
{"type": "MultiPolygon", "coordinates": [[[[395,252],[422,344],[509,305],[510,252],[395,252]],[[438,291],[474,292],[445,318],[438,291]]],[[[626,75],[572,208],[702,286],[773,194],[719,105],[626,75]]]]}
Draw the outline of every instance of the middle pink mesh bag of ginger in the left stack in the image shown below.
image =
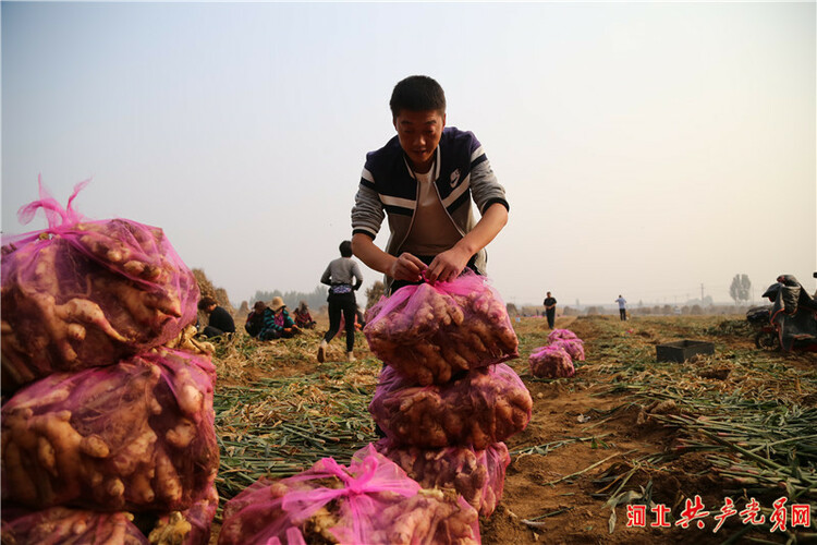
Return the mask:
{"type": "Polygon", "coordinates": [[[173,511],[219,464],[209,360],[157,350],[56,373],[2,407],[2,499],[32,508],[173,511]]]}

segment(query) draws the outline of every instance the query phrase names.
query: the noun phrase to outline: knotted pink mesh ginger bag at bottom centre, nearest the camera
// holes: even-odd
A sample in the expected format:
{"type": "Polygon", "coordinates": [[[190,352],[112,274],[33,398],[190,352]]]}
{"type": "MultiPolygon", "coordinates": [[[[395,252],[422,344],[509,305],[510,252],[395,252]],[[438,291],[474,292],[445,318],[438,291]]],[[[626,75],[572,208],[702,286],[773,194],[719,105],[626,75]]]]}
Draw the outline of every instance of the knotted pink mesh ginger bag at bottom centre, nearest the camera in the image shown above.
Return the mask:
{"type": "Polygon", "coordinates": [[[426,491],[368,447],[349,467],[324,458],[281,481],[261,479],[227,502],[219,545],[480,543],[476,510],[426,491]]]}

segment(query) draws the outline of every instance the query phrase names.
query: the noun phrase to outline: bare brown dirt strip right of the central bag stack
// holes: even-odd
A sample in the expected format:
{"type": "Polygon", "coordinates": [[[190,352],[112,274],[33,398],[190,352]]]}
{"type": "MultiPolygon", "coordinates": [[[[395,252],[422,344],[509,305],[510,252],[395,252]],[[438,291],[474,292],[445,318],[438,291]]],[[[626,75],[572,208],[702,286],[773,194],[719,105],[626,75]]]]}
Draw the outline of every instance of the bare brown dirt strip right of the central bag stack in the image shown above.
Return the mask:
{"type": "MultiPolygon", "coordinates": [[[[594,358],[595,331],[592,323],[575,318],[560,319],[556,327],[573,330],[586,343],[587,360],[578,367],[574,379],[526,385],[534,399],[534,410],[527,428],[507,441],[509,449],[540,445],[561,439],[598,437],[609,448],[589,448],[588,441],[568,444],[547,456],[528,455],[512,458],[505,475],[505,488],[500,508],[489,519],[483,520],[484,544],[526,543],[668,543],[690,540],[691,534],[676,534],[662,529],[627,529],[623,521],[623,509],[619,509],[619,521],[613,533],[609,531],[610,508],[603,500],[590,494],[601,488],[593,481],[624,456],[630,459],[644,453],[659,452],[672,441],[671,434],[657,426],[636,425],[637,411],[624,411],[621,416],[594,425],[593,414],[603,413],[622,400],[617,396],[598,396],[606,378],[601,378],[595,366],[600,362],[594,358]],[[585,420],[588,419],[588,420],[585,420]],[[601,462],[590,471],[574,479],[562,480],[601,462]],[[559,481],[553,483],[554,481],[559,481]],[[553,483],[553,484],[551,484],[553,483]],[[522,520],[535,519],[546,513],[557,513],[541,519],[541,525],[533,529],[522,520]]],[[[522,373],[523,379],[529,378],[522,373]]],[[[690,477],[687,487],[694,486],[690,477]]],[[[675,479],[670,483],[681,489],[675,479]]],[[[703,493],[700,488],[691,493],[703,493]]],[[[674,499],[674,498],[673,498],[674,499]]]]}

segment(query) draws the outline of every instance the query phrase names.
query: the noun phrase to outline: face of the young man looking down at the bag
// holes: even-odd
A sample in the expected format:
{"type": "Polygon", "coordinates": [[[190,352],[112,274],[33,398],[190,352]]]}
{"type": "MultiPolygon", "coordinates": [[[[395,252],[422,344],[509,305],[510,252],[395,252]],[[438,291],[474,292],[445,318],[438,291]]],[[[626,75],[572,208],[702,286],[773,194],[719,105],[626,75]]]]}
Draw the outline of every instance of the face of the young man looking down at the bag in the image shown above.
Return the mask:
{"type": "Polygon", "coordinates": [[[394,119],[400,146],[417,172],[428,172],[446,128],[446,114],[439,110],[400,110],[394,119]]]}

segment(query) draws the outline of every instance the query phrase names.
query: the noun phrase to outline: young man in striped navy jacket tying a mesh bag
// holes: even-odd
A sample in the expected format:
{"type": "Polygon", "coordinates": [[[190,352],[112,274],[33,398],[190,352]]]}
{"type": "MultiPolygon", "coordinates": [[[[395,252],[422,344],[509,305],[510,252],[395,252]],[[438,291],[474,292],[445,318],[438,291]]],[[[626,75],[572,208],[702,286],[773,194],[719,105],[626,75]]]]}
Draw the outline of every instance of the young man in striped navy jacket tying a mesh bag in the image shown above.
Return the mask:
{"type": "Polygon", "coordinates": [[[453,280],[466,266],[485,274],[485,246],[508,222],[509,205],[483,146],[473,133],[446,126],[446,95],[428,76],[398,83],[389,106],[398,134],[366,155],[352,209],[354,254],[386,275],[389,293],[424,279],[453,280]],[[391,235],[382,251],[374,240],[387,214],[391,235]]]}

